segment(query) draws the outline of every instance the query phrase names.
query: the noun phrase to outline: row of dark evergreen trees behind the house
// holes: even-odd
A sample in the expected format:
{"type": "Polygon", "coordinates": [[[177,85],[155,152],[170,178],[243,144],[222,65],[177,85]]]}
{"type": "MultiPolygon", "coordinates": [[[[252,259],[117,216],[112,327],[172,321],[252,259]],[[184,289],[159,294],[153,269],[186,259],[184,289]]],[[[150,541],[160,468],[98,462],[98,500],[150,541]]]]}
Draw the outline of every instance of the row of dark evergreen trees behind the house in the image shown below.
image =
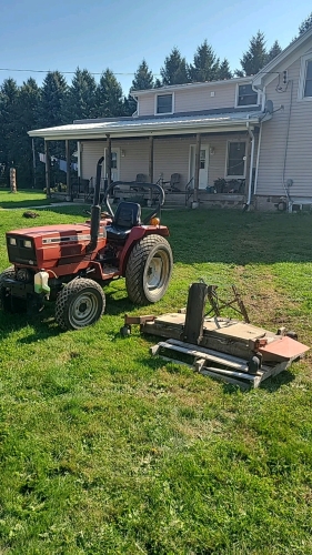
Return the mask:
{"type": "MultiPolygon", "coordinates": [[[[301,23],[299,34],[311,26],[312,12],[301,23]]],[[[258,31],[240,59],[240,68],[232,71],[228,59],[220,60],[207,40],[198,47],[191,63],[174,47],[164,59],[158,78],[154,78],[147,61],[142,60],[128,95],[123,94],[111,69],[103,71],[98,83],[90,71],[80,68],[76,70],[70,84],[59,71],[49,71],[41,87],[33,78],[21,85],[8,78],[0,87],[0,182],[9,184],[9,169],[13,165],[20,188],[32,186],[34,181],[38,186],[44,186],[44,167],[33,164],[33,154],[38,159],[38,152],[43,152],[43,141],[34,139],[32,142],[27,133],[31,129],[90,118],[132,115],[137,103],[131,93],[135,90],[252,75],[280,52],[278,41],[268,49],[264,34],[258,31]]],[[[51,154],[64,158],[63,149],[63,142],[53,142],[51,154]]],[[[61,181],[61,175],[58,170],[54,171],[56,180],[61,181]]]]}

